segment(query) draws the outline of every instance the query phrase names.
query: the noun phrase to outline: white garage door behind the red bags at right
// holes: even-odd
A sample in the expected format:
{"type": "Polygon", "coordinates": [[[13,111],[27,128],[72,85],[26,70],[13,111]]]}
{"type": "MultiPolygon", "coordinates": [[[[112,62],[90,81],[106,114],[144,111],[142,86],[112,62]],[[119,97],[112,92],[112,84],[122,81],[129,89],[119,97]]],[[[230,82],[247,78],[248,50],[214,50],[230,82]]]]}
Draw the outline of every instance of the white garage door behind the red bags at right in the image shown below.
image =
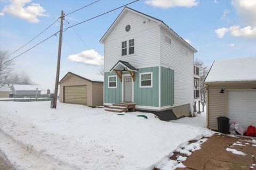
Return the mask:
{"type": "Polygon", "coordinates": [[[228,91],[227,116],[245,129],[256,126],[256,90],[228,91]]]}

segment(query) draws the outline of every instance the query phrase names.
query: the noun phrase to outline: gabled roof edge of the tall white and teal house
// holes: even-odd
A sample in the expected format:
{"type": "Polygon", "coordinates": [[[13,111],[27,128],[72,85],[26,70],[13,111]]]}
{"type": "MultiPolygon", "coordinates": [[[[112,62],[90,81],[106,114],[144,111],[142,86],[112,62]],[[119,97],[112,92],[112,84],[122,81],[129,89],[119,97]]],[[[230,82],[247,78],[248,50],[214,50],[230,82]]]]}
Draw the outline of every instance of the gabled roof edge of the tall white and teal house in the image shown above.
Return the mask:
{"type": "Polygon", "coordinates": [[[105,34],[102,36],[102,38],[100,39],[100,43],[103,43],[105,41],[105,39],[107,38],[107,36],[109,35],[109,33],[115,28],[115,25],[118,23],[119,20],[121,20],[121,18],[125,15],[125,13],[129,11],[135,14],[138,14],[144,18],[150,19],[152,21],[155,21],[158,23],[159,26],[166,28],[167,30],[169,30],[172,35],[176,38],[178,38],[180,41],[182,41],[185,45],[187,45],[191,50],[193,50],[195,53],[197,52],[197,50],[191,46],[189,43],[187,43],[187,41],[185,41],[182,37],[180,37],[178,35],[178,33],[176,33],[175,31],[173,31],[166,23],[164,23],[164,21],[159,20],[154,18],[153,16],[147,15],[145,13],[133,10],[130,7],[125,6],[123,11],[117,16],[116,20],[110,25],[110,27],[108,28],[108,30],[105,32],[105,34]]]}

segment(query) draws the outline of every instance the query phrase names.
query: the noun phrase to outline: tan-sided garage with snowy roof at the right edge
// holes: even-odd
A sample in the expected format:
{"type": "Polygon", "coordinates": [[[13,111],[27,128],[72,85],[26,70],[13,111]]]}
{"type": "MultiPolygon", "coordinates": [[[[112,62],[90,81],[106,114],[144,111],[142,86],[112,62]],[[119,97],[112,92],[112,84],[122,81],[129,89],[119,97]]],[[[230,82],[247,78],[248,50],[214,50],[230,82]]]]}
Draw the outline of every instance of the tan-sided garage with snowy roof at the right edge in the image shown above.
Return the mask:
{"type": "Polygon", "coordinates": [[[218,129],[219,116],[256,126],[256,57],[215,61],[205,84],[208,128],[218,129]]]}

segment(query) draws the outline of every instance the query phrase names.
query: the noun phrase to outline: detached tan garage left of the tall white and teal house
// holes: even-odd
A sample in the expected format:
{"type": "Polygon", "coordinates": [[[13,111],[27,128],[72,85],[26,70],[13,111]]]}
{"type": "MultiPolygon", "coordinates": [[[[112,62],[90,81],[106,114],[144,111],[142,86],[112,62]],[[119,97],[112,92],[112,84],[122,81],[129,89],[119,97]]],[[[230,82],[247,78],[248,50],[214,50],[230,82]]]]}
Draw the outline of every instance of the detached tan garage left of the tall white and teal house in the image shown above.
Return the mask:
{"type": "Polygon", "coordinates": [[[103,106],[103,77],[84,78],[68,72],[60,84],[60,102],[86,106],[103,106]]]}

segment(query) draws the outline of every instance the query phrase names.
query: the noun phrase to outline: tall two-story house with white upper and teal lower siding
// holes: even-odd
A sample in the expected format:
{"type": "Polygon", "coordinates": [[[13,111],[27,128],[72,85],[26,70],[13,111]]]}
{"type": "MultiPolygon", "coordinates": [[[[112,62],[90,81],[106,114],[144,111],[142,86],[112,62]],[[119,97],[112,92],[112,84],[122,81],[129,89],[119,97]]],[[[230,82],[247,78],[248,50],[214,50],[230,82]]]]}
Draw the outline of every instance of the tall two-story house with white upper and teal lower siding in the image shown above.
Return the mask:
{"type": "Polygon", "coordinates": [[[100,39],[104,44],[104,104],[189,114],[194,102],[194,53],[163,21],[125,7],[100,39]]]}

